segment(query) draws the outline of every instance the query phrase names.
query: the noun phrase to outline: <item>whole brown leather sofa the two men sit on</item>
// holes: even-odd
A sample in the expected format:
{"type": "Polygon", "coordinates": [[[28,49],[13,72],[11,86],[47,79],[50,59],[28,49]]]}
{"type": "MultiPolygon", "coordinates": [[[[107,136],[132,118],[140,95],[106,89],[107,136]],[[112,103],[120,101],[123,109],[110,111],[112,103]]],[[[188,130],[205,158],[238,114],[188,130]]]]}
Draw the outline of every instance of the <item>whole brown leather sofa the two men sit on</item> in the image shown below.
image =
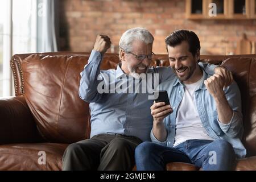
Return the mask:
{"type": "MultiPolygon", "coordinates": [[[[0,170],[61,170],[69,143],[90,134],[88,103],[79,98],[80,72],[89,53],[14,55],[10,61],[15,97],[0,98],[0,170]],[[40,163],[45,152],[45,164],[40,163]]],[[[201,56],[233,72],[241,89],[243,144],[247,158],[237,170],[256,170],[256,55],[201,56]]],[[[117,54],[106,54],[102,69],[115,68],[117,54]]],[[[157,55],[152,65],[168,65],[157,55]]],[[[197,170],[192,164],[169,163],[168,170],[197,170]]]]}

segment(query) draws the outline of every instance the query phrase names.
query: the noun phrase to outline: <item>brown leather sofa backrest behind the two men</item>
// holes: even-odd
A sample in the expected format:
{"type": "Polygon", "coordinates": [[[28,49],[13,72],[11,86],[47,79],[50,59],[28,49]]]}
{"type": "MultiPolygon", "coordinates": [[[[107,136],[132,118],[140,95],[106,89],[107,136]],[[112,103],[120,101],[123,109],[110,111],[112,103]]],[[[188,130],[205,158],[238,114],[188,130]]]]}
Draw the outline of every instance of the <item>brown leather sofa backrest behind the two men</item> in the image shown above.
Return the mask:
{"type": "MultiPolygon", "coordinates": [[[[14,55],[10,61],[15,95],[23,95],[40,134],[51,142],[72,143],[90,135],[88,103],[79,98],[80,72],[90,53],[52,52],[14,55]]],[[[202,61],[222,64],[233,72],[242,94],[243,143],[256,155],[256,55],[201,56],[202,61]],[[228,60],[226,60],[228,59],[228,60]]],[[[104,56],[101,69],[116,68],[117,54],[104,56]]],[[[156,55],[151,65],[168,66],[167,55],[156,55]]]]}

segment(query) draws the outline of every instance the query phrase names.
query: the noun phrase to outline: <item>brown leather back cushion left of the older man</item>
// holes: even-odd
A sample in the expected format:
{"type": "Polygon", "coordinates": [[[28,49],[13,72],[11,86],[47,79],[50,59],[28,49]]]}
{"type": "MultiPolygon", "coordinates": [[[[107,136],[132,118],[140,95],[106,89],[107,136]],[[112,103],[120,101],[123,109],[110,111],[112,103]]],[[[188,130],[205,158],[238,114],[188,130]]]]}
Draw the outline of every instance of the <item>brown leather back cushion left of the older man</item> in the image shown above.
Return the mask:
{"type": "Polygon", "coordinates": [[[46,140],[73,143],[88,137],[89,106],[79,97],[87,60],[34,54],[22,61],[26,102],[46,140]]]}

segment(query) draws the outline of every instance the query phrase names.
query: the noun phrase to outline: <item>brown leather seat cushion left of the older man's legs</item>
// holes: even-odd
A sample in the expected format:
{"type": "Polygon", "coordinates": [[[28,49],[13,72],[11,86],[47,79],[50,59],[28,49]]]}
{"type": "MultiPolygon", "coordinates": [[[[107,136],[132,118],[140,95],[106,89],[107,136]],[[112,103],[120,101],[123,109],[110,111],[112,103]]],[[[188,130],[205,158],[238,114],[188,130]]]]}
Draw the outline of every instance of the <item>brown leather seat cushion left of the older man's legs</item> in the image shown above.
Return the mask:
{"type": "Polygon", "coordinates": [[[61,170],[62,156],[67,147],[68,144],[60,143],[2,145],[0,147],[0,171],[61,170]],[[42,154],[39,151],[46,152],[46,164],[39,164],[40,161],[42,162],[40,160],[42,154]]]}

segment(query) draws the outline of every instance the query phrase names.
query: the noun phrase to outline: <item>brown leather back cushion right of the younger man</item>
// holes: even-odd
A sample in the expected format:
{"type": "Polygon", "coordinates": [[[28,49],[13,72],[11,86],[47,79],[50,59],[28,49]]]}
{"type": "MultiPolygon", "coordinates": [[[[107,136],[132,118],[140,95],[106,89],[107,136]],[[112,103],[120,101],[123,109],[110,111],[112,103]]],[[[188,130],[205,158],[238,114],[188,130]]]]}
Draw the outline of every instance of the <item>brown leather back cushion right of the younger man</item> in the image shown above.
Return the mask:
{"type": "Polygon", "coordinates": [[[256,155],[256,60],[253,58],[229,58],[223,61],[224,67],[232,71],[242,97],[243,144],[246,156],[256,155]]]}

